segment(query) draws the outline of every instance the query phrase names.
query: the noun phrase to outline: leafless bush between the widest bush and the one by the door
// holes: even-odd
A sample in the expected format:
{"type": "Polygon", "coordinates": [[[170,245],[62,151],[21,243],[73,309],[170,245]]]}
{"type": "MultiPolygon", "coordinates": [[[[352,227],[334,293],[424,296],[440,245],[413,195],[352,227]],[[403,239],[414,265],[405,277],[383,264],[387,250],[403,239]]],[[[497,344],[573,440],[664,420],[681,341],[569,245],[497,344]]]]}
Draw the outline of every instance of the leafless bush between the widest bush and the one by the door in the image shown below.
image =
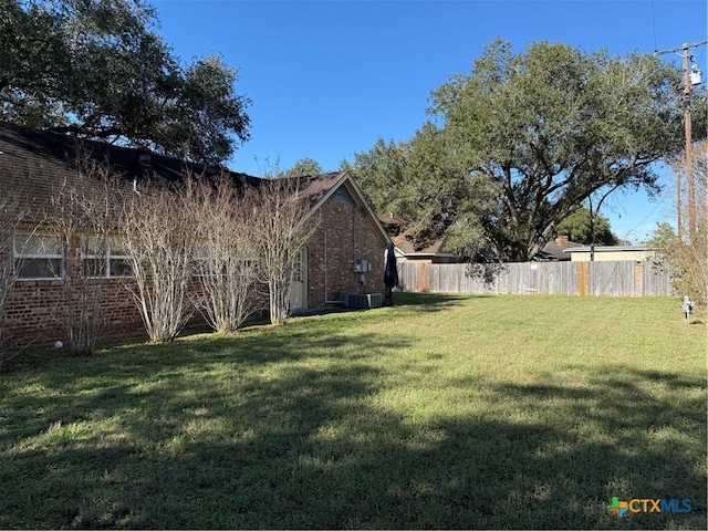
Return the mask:
{"type": "Polygon", "coordinates": [[[252,207],[226,177],[197,187],[195,228],[199,308],[217,332],[236,332],[260,310],[252,207]]]}

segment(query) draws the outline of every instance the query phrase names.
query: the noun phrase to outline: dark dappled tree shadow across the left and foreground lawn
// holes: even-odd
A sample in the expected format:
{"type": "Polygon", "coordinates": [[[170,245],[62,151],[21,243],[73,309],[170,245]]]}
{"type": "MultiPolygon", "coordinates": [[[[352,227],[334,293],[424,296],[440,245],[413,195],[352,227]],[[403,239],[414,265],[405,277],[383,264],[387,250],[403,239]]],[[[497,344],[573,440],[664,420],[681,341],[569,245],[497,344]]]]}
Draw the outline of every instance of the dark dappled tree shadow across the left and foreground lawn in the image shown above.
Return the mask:
{"type": "MultiPolygon", "coordinates": [[[[2,431],[0,527],[705,523],[702,378],[617,366],[580,388],[451,381],[459,399],[487,400],[485,413],[420,420],[379,405],[385,368],[355,353],[333,358],[332,341],[345,339],[253,339],[230,367],[221,342],[196,342],[200,356],[165,351],[173,357],[162,366],[126,356],[132,365],[111,360],[105,374],[74,366],[69,389],[48,375],[44,393],[6,395],[7,410],[35,403],[44,425],[33,436],[2,431]],[[613,496],[690,498],[694,512],[618,519],[606,507],[613,496]]],[[[347,341],[392,346],[375,335],[347,341]]]]}

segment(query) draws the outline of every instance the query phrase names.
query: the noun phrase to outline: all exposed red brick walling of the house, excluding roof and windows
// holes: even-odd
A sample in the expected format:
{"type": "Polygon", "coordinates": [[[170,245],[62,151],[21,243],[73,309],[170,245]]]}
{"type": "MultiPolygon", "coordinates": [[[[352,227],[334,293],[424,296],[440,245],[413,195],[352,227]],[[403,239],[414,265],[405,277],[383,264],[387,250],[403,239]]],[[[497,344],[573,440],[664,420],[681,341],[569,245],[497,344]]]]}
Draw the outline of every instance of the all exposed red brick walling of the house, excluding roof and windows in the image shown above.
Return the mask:
{"type": "MultiPolygon", "coordinates": [[[[365,212],[356,205],[330,199],[316,216],[320,226],[308,244],[308,305],[320,308],[329,302],[341,302],[345,293],[383,293],[386,246],[365,212]],[[358,273],[352,271],[355,260],[367,260],[372,264],[363,284],[358,282],[358,273]]],[[[77,254],[69,262],[73,262],[74,268],[80,267],[75,266],[80,263],[77,254]]],[[[88,282],[91,292],[100,294],[98,309],[105,335],[144,330],[128,291],[134,285],[132,279],[88,282]]],[[[66,342],[70,301],[81,296],[81,289],[77,284],[70,293],[63,280],[17,281],[0,316],[0,329],[4,330],[9,344],[66,342]]],[[[197,289],[195,280],[190,290],[197,289]]],[[[200,321],[201,316],[196,312],[191,322],[200,321]]]]}

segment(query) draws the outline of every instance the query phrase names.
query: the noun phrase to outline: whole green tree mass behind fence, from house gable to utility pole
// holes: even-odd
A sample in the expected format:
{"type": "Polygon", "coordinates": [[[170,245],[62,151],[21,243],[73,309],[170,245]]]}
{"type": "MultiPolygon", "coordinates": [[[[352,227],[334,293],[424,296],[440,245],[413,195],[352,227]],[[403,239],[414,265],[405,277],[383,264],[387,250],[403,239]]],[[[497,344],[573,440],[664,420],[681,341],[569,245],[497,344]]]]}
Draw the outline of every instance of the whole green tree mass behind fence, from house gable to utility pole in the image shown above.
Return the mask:
{"type": "MultiPolygon", "coordinates": [[[[532,258],[579,205],[658,191],[654,163],[684,147],[681,72],[647,54],[496,41],[433,92],[430,119],[343,163],[382,214],[468,257],[532,258]]],[[[694,91],[693,105],[705,102],[694,91]]],[[[694,113],[695,137],[705,112],[694,113]]],[[[606,235],[608,236],[608,235],[606,235]]]]}

